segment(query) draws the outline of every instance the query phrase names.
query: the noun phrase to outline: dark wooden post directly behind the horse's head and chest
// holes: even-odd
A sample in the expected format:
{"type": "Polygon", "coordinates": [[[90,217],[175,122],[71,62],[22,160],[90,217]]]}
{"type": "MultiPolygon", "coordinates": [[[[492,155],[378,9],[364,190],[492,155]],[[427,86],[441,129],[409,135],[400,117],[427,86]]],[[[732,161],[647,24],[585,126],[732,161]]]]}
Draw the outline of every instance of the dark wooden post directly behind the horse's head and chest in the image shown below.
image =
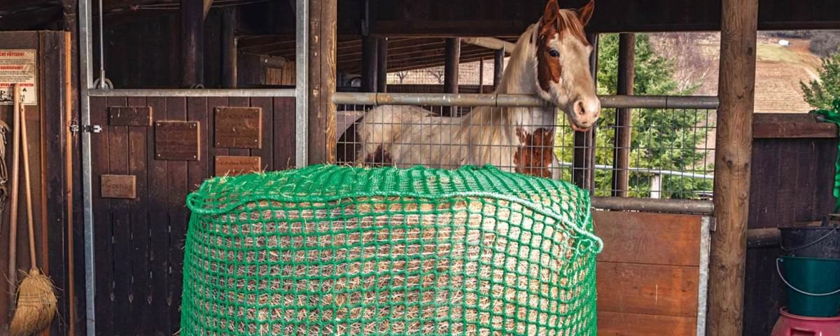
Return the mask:
{"type": "MultiPolygon", "coordinates": [[[[598,82],[598,34],[586,34],[592,45],[589,71],[596,85],[598,82]]],[[[575,150],[572,157],[572,181],[590,192],[595,190],[595,128],[588,132],[575,132],[575,150]]]]}

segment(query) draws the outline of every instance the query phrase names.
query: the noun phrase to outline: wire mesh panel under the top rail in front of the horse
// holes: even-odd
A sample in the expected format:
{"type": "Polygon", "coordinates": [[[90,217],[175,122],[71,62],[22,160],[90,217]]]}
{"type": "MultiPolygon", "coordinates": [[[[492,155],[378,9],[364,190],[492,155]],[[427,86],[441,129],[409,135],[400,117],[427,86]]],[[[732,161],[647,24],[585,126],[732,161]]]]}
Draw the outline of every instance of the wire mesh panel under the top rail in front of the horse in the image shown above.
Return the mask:
{"type": "MultiPolygon", "coordinates": [[[[337,149],[339,164],[427,165],[454,169],[470,164],[470,150],[490,148],[492,162],[502,170],[534,173],[556,160],[550,176],[571,181],[575,157],[575,132],[564,113],[533,114],[528,118],[496,118],[501,108],[441,106],[339,105],[337,149]],[[454,112],[450,112],[454,111],[454,112]],[[475,113],[484,117],[477,117],[475,113]],[[454,113],[454,114],[452,114],[454,113]],[[367,117],[365,117],[367,115],[367,117]],[[446,116],[454,115],[456,118],[446,116]],[[472,117],[470,117],[472,115],[472,117]],[[363,118],[364,117],[364,118],[363,118]],[[526,120],[528,122],[523,122],[526,120]],[[526,137],[517,129],[540,130],[526,137]],[[539,137],[535,136],[540,134],[539,137]],[[498,137],[513,142],[500,144],[498,137]],[[399,150],[395,148],[399,147],[399,150]],[[522,152],[528,160],[522,161],[522,152]],[[517,161],[517,155],[519,161],[517,161]],[[556,159],[555,159],[556,158],[556,159]]],[[[707,109],[633,109],[627,167],[615,160],[616,110],[603,108],[594,129],[594,194],[612,196],[618,188],[628,197],[711,197],[714,171],[715,111],[707,109]],[[627,186],[613,183],[617,171],[626,171],[627,186]]],[[[586,144],[591,145],[591,144],[586,144]]],[[[575,169],[580,168],[577,165],[575,169]]],[[[532,174],[534,175],[534,174],[532,174]]]]}

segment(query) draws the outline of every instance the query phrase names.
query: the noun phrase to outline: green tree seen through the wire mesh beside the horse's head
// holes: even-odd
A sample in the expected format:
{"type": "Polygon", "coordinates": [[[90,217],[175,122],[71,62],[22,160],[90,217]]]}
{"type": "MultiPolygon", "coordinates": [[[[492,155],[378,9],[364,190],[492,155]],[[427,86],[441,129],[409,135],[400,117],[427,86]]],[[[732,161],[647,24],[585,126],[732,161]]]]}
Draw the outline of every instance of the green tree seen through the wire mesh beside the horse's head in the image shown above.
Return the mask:
{"type": "MultiPolygon", "coordinates": [[[[691,95],[700,83],[680,90],[674,79],[675,66],[668,58],[656,55],[648,34],[636,34],[636,74],[633,92],[637,95],[691,95]]],[[[598,53],[598,93],[616,93],[618,74],[618,35],[601,34],[598,53]]],[[[704,129],[708,113],[692,110],[634,109],[630,165],[637,168],[668,171],[704,171],[706,153],[696,150],[706,140],[704,129]]],[[[563,118],[563,117],[561,117],[563,118]]],[[[565,118],[561,123],[566,123],[565,118]]],[[[596,164],[612,165],[616,111],[603,109],[596,132],[596,164]]],[[[571,132],[561,132],[558,143],[570,148],[571,132]]],[[[561,160],[572,161],[571,150],[558,150],[561,160]]],[[[568,175],[568,174],[567,174],[568,175]]],[[[630,194],[649,197],[648,173],[630,173],[630,194]]],[[[571,176],[564,176],[570,178],[571,176]]],[[[596,194],[608,196],[612,189],[612,171],[596,170],[596,194]]],[[[711,180],[663,176],[661,197],[688,197],[690,192],[711,190],[711,180]]]]}

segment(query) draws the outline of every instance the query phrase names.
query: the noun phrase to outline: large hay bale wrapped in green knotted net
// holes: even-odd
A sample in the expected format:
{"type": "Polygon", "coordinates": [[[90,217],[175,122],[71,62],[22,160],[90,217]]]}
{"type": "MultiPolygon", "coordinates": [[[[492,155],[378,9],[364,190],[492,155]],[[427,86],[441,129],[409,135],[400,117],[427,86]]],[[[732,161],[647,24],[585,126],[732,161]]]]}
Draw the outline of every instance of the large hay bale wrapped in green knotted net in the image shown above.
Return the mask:
{"type": "Polygon", "coordinates": [[[187,198],[181,335],[595,335],[589,202],[492,166],[216,177],[187,198]]]}

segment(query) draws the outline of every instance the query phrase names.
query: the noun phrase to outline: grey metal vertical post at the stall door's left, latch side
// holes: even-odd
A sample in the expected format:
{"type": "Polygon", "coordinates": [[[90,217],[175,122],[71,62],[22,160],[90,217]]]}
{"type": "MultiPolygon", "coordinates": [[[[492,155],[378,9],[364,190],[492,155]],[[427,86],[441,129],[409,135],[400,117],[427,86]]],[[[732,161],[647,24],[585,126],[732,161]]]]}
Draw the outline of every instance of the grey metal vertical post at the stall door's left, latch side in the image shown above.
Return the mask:
{"type": "MultiPolygon", "coordinates": [[[[81,87],[81,129],[91,124],[90,88],[93,85],[91,0],[79,0],[79,71],[81,87]]],[[[97,333],[96,323],[96,268],[93,251],[93,198],[91,171],[91,134],[81,135],[81,204],[85,237],[85,323],[88,336],[97,333]]],[[[75,323],[75,321],[71,321],[75,323]]]]}

